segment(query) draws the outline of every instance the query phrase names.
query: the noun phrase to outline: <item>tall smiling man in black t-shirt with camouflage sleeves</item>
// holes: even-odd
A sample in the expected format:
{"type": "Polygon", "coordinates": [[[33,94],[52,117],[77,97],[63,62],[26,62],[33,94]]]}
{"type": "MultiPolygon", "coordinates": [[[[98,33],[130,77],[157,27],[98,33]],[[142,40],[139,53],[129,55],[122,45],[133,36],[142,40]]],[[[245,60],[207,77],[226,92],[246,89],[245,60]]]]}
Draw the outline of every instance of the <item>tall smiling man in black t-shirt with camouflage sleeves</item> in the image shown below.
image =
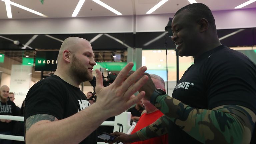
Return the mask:
{"type": "MultiPolygon", "coordinates": [[[[211,10],[202,3],[179,9],[171,22],[179,56],[192,64],[172,97],[152,80],[139,91],[163,114],[133,135],[115,132],[113,141],[143,141],[168,133],[170,144],[248,144],[256,121],[256,65],[220,43],[211,10]]],[[[147,74],[146,74],[147,75],[147,74]]],[[[253,142],[251,142],[253,143],[253,142]]]]}

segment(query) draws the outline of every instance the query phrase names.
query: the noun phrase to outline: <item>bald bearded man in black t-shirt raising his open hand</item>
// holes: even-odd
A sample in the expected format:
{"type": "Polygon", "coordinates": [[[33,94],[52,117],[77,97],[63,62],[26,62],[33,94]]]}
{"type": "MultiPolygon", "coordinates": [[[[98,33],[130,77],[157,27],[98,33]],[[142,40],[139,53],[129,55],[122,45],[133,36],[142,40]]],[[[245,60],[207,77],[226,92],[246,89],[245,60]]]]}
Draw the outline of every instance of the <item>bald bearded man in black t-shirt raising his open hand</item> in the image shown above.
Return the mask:
{"type": "Polygon", "coordinates": [[[129,63],[115,79],[103,86],[96,70],[97,102],[90,105],[79,89],[80,83],[93,78],[96,65],[91,44],[82,38],[69,37],[61,45],[54,75],[33,85],[25,99],[24,121],[27,144],[96,144],[95,129],[107,118],[118,115],[138,102],[145,92],[134,93],[148,80],[146,67],[139,68],[125,81],[132,69],[129,63]]]}

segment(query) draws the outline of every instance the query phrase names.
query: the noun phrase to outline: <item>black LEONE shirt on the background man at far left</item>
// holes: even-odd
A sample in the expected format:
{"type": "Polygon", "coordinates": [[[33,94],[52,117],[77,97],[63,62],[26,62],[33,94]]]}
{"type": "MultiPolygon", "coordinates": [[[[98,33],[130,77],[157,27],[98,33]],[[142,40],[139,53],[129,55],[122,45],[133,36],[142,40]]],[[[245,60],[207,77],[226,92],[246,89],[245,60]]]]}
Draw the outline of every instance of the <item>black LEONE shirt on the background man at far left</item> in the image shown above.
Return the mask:
{"type": "MultiPolygon", "coordinates": [[[[0,101],[0,115],[18,116],[15,103],[10,100],[6,103],[0,101]]],[[[12,131],[14,123],[15,121],[11,121],[9,123],[0,122],[0,132],[12,131]]]]}

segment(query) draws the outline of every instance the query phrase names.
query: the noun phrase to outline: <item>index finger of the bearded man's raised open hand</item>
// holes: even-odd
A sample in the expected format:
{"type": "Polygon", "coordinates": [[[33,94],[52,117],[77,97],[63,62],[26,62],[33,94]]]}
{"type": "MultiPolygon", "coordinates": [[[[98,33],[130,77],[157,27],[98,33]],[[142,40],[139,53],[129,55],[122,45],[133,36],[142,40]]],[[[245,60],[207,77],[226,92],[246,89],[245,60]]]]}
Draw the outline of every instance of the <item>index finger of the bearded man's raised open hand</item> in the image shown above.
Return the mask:
{"type": "Polygon", "coordinates": [[[113,84],[115,83],[116,85],[121,85],[123,80],[126,78],[127,74],[129,73],[129,71],[132,69],[133,67],[133,63],[130,62],[128,63],[117,75],[115,81],[113,82],[113,84]]]}

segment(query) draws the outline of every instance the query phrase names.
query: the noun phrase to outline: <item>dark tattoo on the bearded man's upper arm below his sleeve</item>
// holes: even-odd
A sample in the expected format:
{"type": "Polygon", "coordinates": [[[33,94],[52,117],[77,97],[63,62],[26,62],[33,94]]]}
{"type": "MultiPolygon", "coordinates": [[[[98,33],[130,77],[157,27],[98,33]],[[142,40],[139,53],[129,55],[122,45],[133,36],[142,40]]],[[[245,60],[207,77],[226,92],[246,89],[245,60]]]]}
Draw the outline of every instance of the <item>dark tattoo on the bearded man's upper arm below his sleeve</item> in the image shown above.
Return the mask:
{"type": "Polygon", "coordinates": [[[37,122],[39,122],[39,121],[41,121],[41,120],[54,121],[54,119],[55,119],[54,116],[48,115],[48,114],[32,115],[32,116],[30,116],[30,117],[28,117],[28,118],[26,119],[26,131],[29,130],[29,128],[30,128],[33,124],[35,124],[35,123],[37,123],[37,122]]]}

